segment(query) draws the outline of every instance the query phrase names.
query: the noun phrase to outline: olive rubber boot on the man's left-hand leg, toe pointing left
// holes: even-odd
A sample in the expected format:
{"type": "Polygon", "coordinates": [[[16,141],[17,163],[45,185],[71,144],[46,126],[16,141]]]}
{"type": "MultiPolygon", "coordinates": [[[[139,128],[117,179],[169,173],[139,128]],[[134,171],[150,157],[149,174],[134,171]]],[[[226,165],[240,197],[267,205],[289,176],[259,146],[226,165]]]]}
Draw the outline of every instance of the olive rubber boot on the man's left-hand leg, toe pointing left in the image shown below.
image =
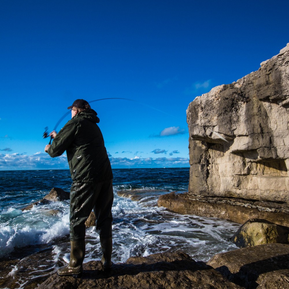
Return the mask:
{"type": "Polygon", "coordinates": [[[79,278],[82,275],[82,262],[85,255],[85,240],[70,241],[70,261],[69,264],[59,268],[57,274],[59,276],[73,276],[79,278]]]}

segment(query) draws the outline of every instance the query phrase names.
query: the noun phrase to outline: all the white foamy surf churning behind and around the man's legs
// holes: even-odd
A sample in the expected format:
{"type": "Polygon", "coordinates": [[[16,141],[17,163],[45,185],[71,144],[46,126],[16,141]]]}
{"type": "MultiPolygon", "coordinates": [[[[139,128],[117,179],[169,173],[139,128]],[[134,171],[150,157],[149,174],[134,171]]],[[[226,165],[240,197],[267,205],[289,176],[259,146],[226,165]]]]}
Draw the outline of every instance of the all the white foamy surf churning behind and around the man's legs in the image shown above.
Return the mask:
{"type": "MultiPolygon", "coordinates": [[[[158,208],[157,197],[150,198],[146,196],[136,202],[114,192],[113,262],[125,262],[134,255],[147,256],[176,249],[182,249],[195,260],[206,261],[214,253],[236,248],[228,241],[237,229],[236,224],[174,214],[158,208]]],[[[38,205],[25,212],[10,208],[5,214],[1,218],[7,217],[9,221],[0,225],[0,256],[15,247],[45,244],[69,234],[68,201],[51,203],[49,210],[38,205]],[[56,214],[51,214],[51,209],[56,214]]],[[[98,232],[95,227],[90,227],[86,231],[84,262],[98,259],[101,254],[98,232]]],[[[53,256],[54,260],[69,262],[69,250],[64,253],[59,247],[54,247],[53,256]]]]}

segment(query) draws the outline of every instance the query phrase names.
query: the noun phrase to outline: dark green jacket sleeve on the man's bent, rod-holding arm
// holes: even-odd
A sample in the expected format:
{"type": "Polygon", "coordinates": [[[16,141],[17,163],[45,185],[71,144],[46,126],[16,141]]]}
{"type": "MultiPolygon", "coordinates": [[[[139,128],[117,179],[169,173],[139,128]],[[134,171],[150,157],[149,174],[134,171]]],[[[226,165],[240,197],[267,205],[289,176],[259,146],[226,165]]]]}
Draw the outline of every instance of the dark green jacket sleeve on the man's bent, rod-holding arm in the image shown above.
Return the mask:
{"type": "Polygon", "coordinates": [[[71,145],[75,138],[76,129],[76,124],[72,120],[60,129],[47,151],[52,158],[62,155],[71,145]]]}

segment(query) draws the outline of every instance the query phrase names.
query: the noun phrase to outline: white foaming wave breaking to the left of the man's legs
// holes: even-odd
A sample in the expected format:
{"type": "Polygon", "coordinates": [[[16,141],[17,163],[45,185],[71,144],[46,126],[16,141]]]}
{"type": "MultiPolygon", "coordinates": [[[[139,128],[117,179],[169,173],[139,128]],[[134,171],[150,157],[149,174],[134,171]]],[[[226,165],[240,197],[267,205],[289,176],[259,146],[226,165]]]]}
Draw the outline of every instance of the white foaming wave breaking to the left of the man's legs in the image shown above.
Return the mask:
{"type": "Polygon", "coordinates": [[[0,224],[0,257],[14,248],[46,244],[69,234],[68,211],[67,203],[63,202],[52,203],[51,209],[41,205],[24,212],[9,208],[1,216],[7,221],[0,224]],[[55,212],[58,214],[53,215],[55,212]]]}

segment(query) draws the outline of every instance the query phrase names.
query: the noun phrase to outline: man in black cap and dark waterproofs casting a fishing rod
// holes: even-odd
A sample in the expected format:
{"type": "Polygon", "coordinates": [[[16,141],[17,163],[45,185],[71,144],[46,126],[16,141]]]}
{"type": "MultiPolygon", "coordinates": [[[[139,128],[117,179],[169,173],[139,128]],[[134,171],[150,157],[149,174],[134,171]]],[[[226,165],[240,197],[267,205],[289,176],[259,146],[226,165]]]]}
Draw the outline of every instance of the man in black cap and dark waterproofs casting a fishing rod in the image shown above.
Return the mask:
{"type": "Polygon", "coordinates": [[[73,183],[70,191],[70,262],[58,269],[60,276],[80,277],[85,255],[85,221],[94,210],[96,229],[102,249],[105,270],[111,267],[112,254],[112,169],[97,125],[97,113],[84,99],[71,106],[71,120],[56,134],[52,131],[51,145],[45,151],[54,158],[67,154],[73,183]]]}

